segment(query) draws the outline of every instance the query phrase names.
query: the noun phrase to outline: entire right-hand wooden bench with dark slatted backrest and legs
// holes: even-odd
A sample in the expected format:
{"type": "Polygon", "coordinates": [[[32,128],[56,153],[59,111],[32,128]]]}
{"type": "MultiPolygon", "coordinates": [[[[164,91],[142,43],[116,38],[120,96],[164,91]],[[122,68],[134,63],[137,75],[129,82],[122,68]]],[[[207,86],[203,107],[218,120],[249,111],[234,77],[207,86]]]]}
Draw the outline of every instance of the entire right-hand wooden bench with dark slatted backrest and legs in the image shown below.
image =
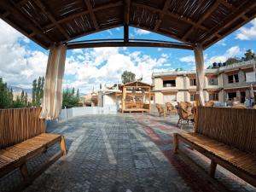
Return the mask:
{"type": "Polygon", "coordinates": [[[219,165],[256,187],[256,110],[199,107],[197,115],[195,132],[174,134],[174,152],[186,143],[211,160],[211,177],[219,165]]]}

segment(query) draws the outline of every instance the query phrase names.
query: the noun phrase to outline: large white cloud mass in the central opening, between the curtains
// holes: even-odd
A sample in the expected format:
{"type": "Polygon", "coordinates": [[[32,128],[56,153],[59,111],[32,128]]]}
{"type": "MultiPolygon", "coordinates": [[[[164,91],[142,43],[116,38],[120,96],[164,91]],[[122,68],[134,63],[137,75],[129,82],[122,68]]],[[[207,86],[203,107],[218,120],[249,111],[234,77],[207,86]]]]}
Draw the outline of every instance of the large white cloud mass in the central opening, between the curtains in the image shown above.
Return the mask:
{"type": "Polygon", "coordinates": [[[64,87],[79,88],[83,92],[90,91],[94,85],[113,84],[121,82],[121,74],[131,71],[136,74],[137,79],[143,76],[143,81],[151,83],[153,70],[160,70],[160,67],[170,67],[166,63],[168,55],[160,58],[152,58],[150,55],[143,55],[140,51],[130,54],[120,53],[118,48],[96,48],[88,50],[90,61],[81,61],[78,57],[67,57],[65,74],[73,75],[74,80],[66,80],[64,87]]]}

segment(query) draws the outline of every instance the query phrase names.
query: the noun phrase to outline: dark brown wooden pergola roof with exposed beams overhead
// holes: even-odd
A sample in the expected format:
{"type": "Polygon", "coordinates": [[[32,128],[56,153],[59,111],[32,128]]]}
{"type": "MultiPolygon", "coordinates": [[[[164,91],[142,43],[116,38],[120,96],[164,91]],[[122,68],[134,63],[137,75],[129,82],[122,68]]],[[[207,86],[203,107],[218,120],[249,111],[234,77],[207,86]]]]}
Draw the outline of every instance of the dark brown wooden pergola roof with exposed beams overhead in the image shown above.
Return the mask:
{"type": "Polygon", "coordinates": [[[204,49],[253,20],[255,0],[1,0],[0,17],[44,48],[134,26],[204,49]]]}

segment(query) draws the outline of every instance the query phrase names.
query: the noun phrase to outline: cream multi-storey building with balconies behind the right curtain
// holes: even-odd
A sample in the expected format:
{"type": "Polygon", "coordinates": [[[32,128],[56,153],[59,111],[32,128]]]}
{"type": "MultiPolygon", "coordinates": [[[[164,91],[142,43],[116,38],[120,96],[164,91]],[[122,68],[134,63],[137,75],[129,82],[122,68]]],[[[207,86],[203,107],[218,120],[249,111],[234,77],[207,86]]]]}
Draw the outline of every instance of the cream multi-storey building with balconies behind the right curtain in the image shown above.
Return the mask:
{"type": "MultiPolygon", "coordinates": [[[[206,69],[205,101],[244,102],[246,97],[250,97],[252,86],[256,90],[255,65],[256,61],[252,60],[206,69]]],[[[152,80],[155,103],[195,101],[195,71],[153,73],[152,80]]]]}

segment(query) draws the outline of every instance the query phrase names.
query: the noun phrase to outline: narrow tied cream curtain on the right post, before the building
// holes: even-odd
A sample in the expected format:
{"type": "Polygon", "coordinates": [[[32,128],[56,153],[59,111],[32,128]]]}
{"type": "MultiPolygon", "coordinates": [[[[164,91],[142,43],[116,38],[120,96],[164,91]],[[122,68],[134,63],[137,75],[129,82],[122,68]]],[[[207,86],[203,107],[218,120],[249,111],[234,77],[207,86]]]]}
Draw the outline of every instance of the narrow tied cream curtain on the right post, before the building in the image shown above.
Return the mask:
{"type": "Polygon", "coordinates": [[[204,99],[204,84],[205,84],[205,63],[203,56],[203,49],[201,46],[197,45],[194,49],[195,52],[195,67],[196,67],[196,94],[199,98],[201,106],[205,105],[204,99]]]}

